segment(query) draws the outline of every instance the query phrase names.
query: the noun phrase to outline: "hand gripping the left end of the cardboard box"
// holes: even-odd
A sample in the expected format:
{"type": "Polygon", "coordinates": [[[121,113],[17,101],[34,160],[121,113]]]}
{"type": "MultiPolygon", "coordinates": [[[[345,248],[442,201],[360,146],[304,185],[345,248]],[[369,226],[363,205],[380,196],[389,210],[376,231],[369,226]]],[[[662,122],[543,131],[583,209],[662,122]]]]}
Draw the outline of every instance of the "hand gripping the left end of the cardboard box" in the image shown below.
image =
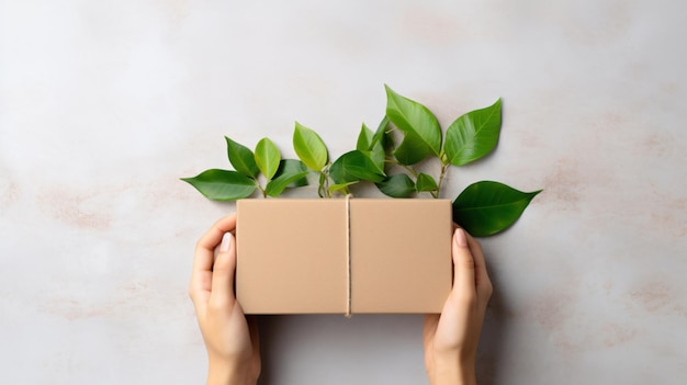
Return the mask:
{"type": "Polygon", "coordinates": [[[256,384],[260,375],[257,324],[246,319],[234,295],[235,228],[236,214],[217,220],[193,257],[189,294],[207,349],[207,384],[256,384]]]}

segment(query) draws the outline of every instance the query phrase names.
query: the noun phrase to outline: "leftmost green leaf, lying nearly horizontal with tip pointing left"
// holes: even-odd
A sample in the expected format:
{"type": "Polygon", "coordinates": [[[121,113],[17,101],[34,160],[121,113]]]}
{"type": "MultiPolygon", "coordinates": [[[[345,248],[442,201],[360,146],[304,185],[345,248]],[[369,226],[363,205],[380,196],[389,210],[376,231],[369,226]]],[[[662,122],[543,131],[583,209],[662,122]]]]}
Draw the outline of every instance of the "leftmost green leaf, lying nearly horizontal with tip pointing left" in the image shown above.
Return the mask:
{"type": "Polygon", "coordinates": [[[182,178],[201,194],[213,201],[236,201],[248,197],[256,190],[256,183],[248,177],[229,170],[205,170],[193,178],[182,178]]]}

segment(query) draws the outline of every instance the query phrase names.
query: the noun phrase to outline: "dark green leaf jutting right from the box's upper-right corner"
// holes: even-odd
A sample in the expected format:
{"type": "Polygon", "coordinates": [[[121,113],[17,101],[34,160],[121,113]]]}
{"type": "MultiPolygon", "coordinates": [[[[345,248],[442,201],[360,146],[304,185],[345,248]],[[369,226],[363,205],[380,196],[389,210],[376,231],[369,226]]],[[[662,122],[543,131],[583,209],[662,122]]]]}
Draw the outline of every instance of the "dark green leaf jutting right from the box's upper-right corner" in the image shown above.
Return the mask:
{"type": "Polygon", "coordinates": [[[453,222],[476,237],[500,233],[520,217],[540,192],[521,192],[492,181],[473,183],[453,202],[453,222]]]}

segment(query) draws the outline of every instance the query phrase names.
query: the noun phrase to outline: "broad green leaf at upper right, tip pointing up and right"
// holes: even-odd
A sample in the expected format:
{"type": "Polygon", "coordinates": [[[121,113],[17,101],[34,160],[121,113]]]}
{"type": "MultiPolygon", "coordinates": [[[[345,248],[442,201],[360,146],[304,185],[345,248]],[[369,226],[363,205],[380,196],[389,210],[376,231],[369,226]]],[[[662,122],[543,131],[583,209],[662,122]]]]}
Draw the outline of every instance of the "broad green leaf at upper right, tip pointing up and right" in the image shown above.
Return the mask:
{"type": "Polygon", "coordinates": [[[493,105],[457,118],[446,132],[444,151],[454,166],[463,166],[489,154],[500,133],[500,99],[493,105]]]}

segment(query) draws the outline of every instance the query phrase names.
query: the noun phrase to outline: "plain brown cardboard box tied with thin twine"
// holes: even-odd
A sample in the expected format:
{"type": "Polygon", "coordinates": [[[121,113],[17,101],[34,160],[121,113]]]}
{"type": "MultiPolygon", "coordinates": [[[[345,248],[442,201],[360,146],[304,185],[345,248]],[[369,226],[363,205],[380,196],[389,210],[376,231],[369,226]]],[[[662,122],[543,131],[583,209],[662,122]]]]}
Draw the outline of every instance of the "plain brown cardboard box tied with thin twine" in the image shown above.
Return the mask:
{"type": "Polygon", "coordinates": [[[236,295],[246,314],[441,313],[448,200],[240,200],[236,295]]]}

